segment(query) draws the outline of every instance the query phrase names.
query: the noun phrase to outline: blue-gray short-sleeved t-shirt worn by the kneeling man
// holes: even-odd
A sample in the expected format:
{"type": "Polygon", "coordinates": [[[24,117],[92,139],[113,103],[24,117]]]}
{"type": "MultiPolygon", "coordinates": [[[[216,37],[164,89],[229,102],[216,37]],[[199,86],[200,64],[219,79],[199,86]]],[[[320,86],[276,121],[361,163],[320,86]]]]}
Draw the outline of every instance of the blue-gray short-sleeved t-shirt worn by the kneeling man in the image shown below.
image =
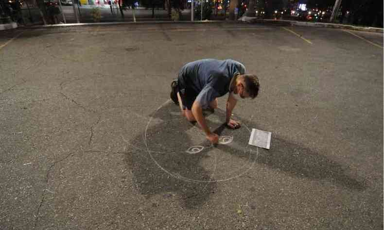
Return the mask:
{"type": "Polygon", "coordinates": [[[245,66],[234,60],[203,59],[183,66],[179,72],[184,87],[199,92],[196,100],[207,108],[213,99],[229,91],[229,83],[236,74],[245,74],[245,66]]]}

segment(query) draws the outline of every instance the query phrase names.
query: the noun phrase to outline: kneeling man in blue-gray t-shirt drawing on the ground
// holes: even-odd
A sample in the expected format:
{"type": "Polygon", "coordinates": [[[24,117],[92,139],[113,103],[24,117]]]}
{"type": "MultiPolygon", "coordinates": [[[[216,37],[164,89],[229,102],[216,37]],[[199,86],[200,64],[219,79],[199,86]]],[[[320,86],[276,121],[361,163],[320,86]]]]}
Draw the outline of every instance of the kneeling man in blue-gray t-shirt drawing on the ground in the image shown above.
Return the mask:
{"type": "Polygon", "coordinates": [[[217,144],[219,136],[209,130],[203,109],[217,108],[217,98],[229,92],[226,123],[231,129],[240,128],[240,123],[231,119],[232,110],[237,100],[257,97],[259,79],[245,74],[240,62],[203,59],[183,66],[171,87],[171,99],[180,105],[181,114],[191,122],[197,121],[207,139],[217,144]]]}

